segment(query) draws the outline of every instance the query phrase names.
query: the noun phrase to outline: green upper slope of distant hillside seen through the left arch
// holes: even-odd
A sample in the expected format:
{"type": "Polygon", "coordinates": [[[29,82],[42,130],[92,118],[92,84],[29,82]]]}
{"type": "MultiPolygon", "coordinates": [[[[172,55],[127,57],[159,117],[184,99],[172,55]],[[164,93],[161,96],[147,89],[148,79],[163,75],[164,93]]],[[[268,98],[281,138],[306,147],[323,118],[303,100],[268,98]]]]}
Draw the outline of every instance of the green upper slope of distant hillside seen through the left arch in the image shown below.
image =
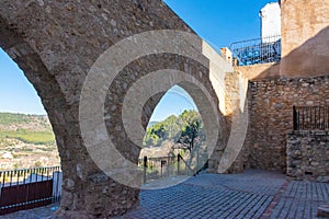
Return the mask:
{"type": "Polygon", "coordinates": [[[13,138],[27,143],[54,143],[47,116],[0,113],[0,140],[13,138]]]}

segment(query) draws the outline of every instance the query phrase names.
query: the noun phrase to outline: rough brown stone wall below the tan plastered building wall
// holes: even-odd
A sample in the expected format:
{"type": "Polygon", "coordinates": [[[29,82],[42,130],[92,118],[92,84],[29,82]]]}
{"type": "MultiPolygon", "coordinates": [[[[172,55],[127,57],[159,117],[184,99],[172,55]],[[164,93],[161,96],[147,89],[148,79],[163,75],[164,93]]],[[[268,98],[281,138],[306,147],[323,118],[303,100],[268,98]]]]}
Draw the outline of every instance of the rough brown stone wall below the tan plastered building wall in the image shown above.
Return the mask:
{"type": "Polygon", "coordinates": [[[251,168],[285,171],[293,105],[328,105],[328,88],[329,76],[250,82],[251,168]]]}

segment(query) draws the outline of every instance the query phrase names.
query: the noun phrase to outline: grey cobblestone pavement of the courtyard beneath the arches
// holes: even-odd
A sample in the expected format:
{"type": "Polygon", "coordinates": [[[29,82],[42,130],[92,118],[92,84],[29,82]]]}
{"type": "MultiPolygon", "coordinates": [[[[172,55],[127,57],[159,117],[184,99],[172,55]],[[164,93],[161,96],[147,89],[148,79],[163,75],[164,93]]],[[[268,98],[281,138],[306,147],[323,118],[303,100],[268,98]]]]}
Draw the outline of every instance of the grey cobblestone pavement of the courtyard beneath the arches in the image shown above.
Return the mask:
{"type": "MultiPolygon", "coordinates": [[[[166,183],[168,181],[164,181],[166,183]]],[[[116,219],[149,218],[316,218],[329,203],[329,184],[285,181],[275,172],[200,174],[173,187],[143,191],[140,206],[116,219]]],[[[54,207],[54,206],[53,206],[54,207]]],[[[52,206],[2,217],[55,218],[52,206]]]]}

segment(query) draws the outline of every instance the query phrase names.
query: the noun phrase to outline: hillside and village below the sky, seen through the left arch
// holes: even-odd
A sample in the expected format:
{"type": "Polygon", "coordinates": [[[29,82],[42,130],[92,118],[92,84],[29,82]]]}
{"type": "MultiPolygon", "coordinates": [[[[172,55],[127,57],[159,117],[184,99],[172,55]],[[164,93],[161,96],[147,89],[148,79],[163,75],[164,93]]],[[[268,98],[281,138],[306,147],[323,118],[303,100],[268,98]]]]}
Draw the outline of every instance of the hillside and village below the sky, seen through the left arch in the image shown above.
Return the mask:
{"type": "Polygon", "coordinates": [[[0,170],[59,165],[47,116],[0,113],[0,170]]]}

